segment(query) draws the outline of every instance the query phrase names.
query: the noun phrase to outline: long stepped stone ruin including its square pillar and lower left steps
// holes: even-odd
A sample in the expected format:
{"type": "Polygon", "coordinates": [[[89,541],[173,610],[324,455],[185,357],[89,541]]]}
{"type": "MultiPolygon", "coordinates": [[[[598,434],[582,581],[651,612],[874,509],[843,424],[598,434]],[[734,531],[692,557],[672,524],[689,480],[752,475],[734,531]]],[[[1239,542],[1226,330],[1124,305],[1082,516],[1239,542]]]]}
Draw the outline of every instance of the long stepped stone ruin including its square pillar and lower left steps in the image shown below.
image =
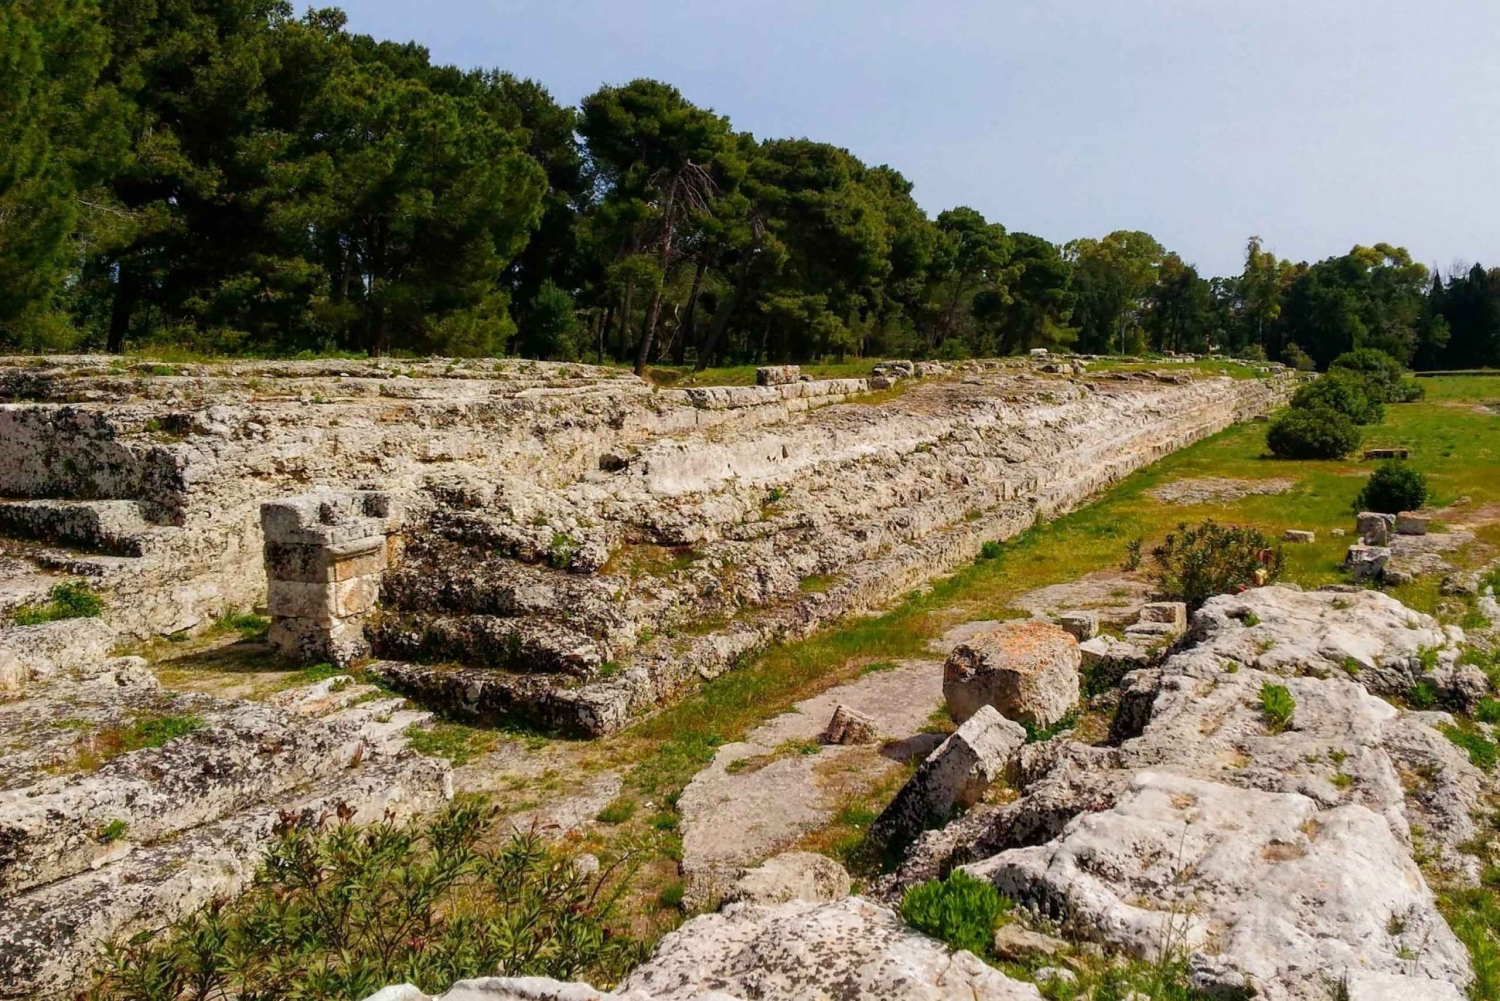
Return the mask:
{"type": "Polygon", "coordinates": [[[1072,369],[660,389],[526,362],[0,360],[0,614],[63,581],[105,602],[0,627],[0,996],[62,993],[100,939],[232,893],[288,816],[441,801],[447,765],[405,747],[432,710],[610,732],[1293,380],[1072,369]],[[346,677],[165,692],[110,656],[249,609],[418,708],[346,677]],[[100,756],[142,720],[184,732],[100,756]]]}

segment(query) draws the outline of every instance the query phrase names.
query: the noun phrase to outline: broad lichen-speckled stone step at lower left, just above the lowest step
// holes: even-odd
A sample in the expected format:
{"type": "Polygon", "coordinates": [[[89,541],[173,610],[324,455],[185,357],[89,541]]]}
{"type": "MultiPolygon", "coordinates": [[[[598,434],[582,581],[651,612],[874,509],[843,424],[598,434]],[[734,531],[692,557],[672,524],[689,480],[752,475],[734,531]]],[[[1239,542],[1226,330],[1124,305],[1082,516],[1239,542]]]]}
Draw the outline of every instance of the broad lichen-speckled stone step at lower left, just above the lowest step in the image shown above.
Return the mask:
{"type": "Polygon", "coordinates": [[[357,735],[272,705],[160,693],[147,707],[130,689],[76,687],[62,722],[80,753],[44,768],[57,774],[0,792],[0,894],[108,858],[112,827],[156,842],[333,780],[363,756],[357,735]],[[100,764],[129,743],[146,746],[100,764]]]}

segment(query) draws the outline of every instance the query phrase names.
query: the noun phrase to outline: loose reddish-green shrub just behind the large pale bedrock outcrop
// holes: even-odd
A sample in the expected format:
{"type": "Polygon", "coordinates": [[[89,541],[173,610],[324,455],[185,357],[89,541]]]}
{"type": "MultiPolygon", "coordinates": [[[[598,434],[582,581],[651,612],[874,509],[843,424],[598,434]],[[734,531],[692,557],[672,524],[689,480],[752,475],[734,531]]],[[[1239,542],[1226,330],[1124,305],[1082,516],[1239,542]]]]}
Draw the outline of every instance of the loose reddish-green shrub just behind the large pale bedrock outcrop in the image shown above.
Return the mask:
{"type": "Polygon", "coordinates": [[[1232,594],[1281,575],[1281,548],[1256,528],[1209,519],[1178,530],[1150,551],[1148,578],[1164,600],[1197,611],[1215,594],[1232,594]]]}

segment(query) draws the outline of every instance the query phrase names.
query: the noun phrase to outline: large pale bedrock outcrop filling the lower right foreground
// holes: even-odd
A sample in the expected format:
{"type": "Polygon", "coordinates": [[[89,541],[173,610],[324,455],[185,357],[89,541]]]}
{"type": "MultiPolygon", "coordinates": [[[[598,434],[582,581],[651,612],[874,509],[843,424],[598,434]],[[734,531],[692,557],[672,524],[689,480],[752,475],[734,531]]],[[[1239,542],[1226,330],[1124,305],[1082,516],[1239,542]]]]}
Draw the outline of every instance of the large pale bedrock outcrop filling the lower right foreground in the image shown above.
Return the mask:
{"type": "Polygon", "coordinates": [[[1467,953],[1416,857],[1478,881],[1462,845],[1488,779],[1448,713],[1378,693],[1466,702],[1485,683],[1458,665],[1462,639],[1378,591],[1215,597],[1160,668],[1125,677],[1134,732],[1028,746],[1020,797],[924,834],[884,891],[962,866],[1071,938],[1184,950],[1210,992],[1458,998],[1467,953]],[[1268,686],[1290,719],[1266,711],[1268,686]]]}

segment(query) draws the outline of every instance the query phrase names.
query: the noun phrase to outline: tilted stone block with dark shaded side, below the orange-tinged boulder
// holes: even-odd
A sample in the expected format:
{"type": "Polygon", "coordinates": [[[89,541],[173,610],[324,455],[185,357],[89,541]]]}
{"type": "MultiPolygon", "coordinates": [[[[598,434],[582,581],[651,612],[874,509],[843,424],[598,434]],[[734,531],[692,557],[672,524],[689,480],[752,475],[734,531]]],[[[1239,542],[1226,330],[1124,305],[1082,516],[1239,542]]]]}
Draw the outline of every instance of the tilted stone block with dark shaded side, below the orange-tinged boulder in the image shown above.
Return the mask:
{"type": "Polygon", "coordinates": [[[906,843],[956,809],[978,803],[1005,776],[1024,743],[1024,726],[993,705],[981,705],[916,768],[870,825],[870,836],[878,843],[906,843]]]}

